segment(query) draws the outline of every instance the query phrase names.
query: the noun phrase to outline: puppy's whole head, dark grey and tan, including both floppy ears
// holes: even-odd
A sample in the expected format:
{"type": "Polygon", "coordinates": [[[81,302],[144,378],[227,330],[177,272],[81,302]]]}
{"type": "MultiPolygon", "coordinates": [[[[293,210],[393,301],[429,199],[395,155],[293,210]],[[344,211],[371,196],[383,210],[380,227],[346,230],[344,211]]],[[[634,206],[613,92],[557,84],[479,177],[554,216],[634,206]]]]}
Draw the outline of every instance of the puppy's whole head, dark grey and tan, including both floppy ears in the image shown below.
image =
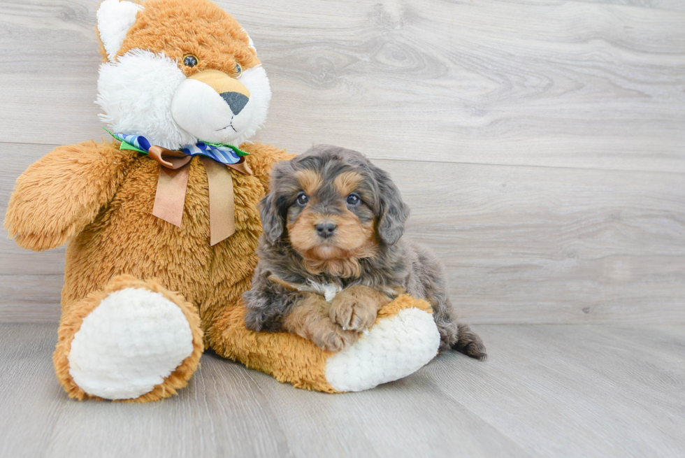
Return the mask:
{"type": "Polygon", "coordinates": [[[287,237],[305,259],[370,257],[403,233],[408,207],[387,173],[359,152],[317,145],[276,164],[271,178],[261,202],[265,239],[287,237]]]}

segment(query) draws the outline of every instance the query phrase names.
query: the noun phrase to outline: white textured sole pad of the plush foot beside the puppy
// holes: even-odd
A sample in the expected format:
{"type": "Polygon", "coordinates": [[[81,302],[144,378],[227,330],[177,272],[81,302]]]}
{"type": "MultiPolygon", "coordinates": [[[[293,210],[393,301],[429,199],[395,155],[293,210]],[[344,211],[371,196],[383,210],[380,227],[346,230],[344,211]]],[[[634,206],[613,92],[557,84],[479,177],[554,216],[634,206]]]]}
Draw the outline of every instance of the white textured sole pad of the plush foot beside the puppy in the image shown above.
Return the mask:
{"type": "Polygon", "coordinates": [[[377,322],[351,347],[326,361],[326,380],[340,392],[362,391],[406,377],[438,353],[433,315],[405,308],[377,322]]]}

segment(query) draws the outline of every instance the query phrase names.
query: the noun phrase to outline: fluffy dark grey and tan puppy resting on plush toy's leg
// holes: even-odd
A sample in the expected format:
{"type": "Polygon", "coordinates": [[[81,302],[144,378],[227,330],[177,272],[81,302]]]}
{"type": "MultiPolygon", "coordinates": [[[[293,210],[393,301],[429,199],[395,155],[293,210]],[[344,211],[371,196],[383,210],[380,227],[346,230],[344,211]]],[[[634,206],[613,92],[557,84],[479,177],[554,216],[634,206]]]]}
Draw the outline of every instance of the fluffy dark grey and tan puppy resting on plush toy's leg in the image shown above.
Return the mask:
{"type": "Polygon", "coordinates": [[[408,292],[433,307],[440,350],[485,359],[477,334],[454,321],[440,260],[402,237],[409,208],[396,185],[359,152],[317,145],[276,164],[260,210],[259,264],[244,296],[248,329],[343,350],[408,292]]]}

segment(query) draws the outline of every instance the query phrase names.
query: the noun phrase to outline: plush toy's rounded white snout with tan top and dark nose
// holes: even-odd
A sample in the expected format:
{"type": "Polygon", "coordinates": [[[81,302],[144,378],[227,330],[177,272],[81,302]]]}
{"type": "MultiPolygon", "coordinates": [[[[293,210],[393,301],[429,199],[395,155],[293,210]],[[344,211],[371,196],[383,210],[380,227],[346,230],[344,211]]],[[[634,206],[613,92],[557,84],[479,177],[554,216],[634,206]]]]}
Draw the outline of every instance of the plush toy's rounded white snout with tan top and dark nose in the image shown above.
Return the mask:
{"type": "Polygon", "coordinates": [[[219,71],[203,71],[176,89],[171,116],[176,124],[201,141],[231,143],[252,125],[250,91],[219,71]]]}

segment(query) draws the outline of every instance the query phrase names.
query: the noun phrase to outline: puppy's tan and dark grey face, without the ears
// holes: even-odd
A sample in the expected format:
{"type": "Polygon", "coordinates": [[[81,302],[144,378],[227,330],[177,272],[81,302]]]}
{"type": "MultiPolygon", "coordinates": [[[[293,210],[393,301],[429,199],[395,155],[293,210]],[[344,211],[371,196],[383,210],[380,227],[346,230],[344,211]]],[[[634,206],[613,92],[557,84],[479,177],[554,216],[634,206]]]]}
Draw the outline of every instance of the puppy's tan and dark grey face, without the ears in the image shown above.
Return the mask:
{"type": "Polygon", "coordinates": [[[368,176],[341,164],[310,165],[293,176],[297,193],[286,224],[294,250],[317,261],[373,255],[376,215],[368,176]]]}

